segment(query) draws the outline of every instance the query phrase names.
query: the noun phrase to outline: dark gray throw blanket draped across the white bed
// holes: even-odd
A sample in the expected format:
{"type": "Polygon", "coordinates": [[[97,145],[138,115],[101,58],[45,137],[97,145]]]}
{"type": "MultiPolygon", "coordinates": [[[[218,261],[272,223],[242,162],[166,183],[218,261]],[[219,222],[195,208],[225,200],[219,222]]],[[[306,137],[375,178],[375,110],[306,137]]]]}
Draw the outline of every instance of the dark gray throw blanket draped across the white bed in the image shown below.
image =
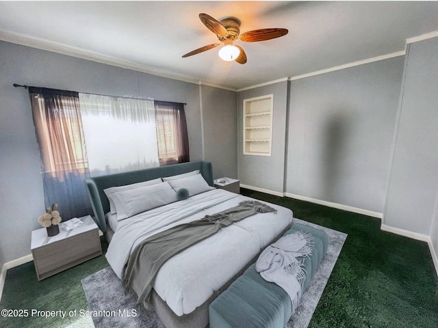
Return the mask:
{"type": "Polygon", "coordinates": [[[257,201],[240,202],[239,205],[203,219],[183,223],[146,238],[133,250],[129,257],[123,284],[134,292],[136,305],[149,308],[151,291],[155,277],[162,265],[172,256],[184,249],[216,234],[220,229],[230,226],[257,213],[276,213],[276,209],[257,201]]]}

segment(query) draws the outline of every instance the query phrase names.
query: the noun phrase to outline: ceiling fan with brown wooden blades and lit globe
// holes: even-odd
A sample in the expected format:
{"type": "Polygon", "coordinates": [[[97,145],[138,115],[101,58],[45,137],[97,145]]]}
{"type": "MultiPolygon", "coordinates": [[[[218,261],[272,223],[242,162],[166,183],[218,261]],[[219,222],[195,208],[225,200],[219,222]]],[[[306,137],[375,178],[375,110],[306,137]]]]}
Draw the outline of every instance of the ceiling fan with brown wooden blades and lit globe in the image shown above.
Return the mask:
{"type": "MultiPolygon", "coordinates": [[[[216,34],[219,41],[224,44],[224,46],[219,51],[219,57],[225,61],[237,61],[239,64],[246,63],[246,53],[241,46],[233,44],[236,40],[244,42],[259,42],[271,40],[274,38],[279,38],[285,36],[288,31],[287,29],[255,29],[253,31],[248,31],[240,34],[240,20],[235,17],[222,18],[221,20],[216,20],[215,18],[207,14],[199,14],[199,19],[201,22],[213,33],[216,34]]],[[[220,43],[209,44],[203,46],[190,53],[183,55],[183,58],[196,55],[198,53],[203,53],[204,51],[214,49],[219,46],[220,43]]]]}

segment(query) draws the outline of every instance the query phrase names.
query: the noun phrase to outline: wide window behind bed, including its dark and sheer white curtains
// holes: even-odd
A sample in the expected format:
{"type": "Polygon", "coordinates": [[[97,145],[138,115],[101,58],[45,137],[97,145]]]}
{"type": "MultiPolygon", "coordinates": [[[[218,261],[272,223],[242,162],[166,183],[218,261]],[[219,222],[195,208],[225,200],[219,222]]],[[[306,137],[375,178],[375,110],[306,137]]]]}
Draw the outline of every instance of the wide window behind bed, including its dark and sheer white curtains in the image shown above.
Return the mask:
{"type": "Polygon", "coordinates": [[[29,87],[44,205],[92,214],[85,179],[189,161],[183,104],[29,87]]]}

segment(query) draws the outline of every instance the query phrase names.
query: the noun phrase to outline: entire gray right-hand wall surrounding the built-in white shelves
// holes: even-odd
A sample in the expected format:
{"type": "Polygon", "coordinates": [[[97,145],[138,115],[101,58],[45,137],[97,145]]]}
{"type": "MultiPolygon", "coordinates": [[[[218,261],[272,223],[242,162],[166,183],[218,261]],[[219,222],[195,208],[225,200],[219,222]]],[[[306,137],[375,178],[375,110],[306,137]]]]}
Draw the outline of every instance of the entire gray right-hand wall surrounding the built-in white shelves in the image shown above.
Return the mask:
{"type": "Polygon", "coordinates": [[[409,44],[407,56],[290,81],[286,90],[239,92],[241,183],[382,213],[386,226],[430,236],[438,254],[437,67],[433,38],[409,44]],[[273,155],[244,156],[242,102],[271,93],[273,155]]]}

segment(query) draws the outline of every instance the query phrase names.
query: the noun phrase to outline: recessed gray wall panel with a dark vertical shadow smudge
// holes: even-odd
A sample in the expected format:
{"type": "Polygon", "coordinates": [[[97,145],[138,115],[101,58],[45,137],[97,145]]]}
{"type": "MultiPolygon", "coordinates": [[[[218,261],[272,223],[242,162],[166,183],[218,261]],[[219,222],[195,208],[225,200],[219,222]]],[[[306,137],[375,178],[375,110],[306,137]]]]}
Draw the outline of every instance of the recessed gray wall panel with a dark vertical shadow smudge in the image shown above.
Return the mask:
{"type": "Polygon", "coordinates": [[[287,193],[383,213],[403,63],[291,81],[287,193]]]}

